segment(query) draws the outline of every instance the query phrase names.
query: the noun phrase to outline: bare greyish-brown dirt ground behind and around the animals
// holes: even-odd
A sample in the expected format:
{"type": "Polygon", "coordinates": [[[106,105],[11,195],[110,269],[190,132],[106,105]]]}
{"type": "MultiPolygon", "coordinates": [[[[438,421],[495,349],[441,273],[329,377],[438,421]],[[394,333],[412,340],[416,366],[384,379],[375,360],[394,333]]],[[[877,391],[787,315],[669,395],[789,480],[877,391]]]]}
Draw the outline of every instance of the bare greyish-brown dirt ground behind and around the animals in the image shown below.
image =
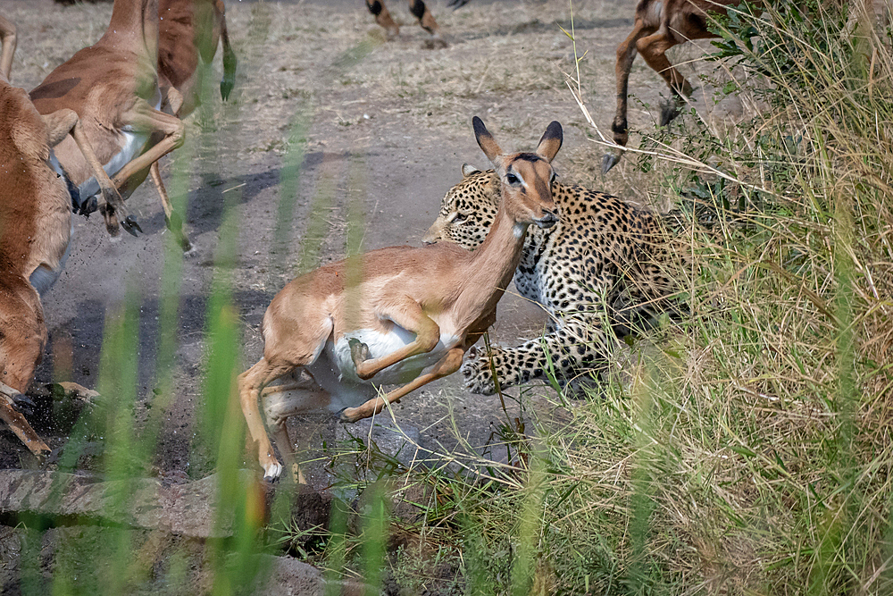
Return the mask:
{"type": "MultiPolygon", "coordinates": [[[[353,222],[363,231],[363,248],[420,244],[440,198],[461,180],[463,162],[487,165],[472,134],[473,115],[480,115],[510,149],[534,147],[547,123],[558,120],[565,136],[555,166],[564,180],[633,201],[654,198],[638,189],[629,160],[604,180],[597,174],[604,151],[591,141],[596,133],[564,83],[565,73],[576,76],[572,40],[559,27],[571,29],[567,2],[482,2],[457,12],[447,10],[445,2],[430,2],[449,42],[444,49],[426,48],[428,34],[405,3],[389,4],[403,29],[399,38],[386,42],[361,0],[228,3],[230,36],[240,61],[233,98],[223,105],[213,97],[206,113],[188,121],[188,134],[205,140],[189,164],[187,227],[196,254],[183,264],[177,395],[166,412],[156,457],[161,474],[198,478],[211,471],[190,453],[190,445],[203,390],[207,298],[226,206],[234,206],[238,225],[238,261],[228,273],[244,323],[246,367],[262,351],[264,309],[293,276],[302,254],[318,251],[320,262],[344,256],[346,230],[353,222]],[[274,253],[280,173],[296,115],[307,122],[305,156],[294,218],[281,223],[288,246],[274,253]],[[327,198],[328,230],[305,239],[311,205],[327,198]],[[348,216],[352,201],[363,206],[362,214],[348,216]]],[[[634,3],[576,0],[572,8],[576,53],[584,56],[583,95],[607,134],[614,109],[614,52],[630,31],[634,3]]],[[[57,64],[96,41],[110,10],[108,4],[62,7],[51,0],[0,0],[0,13],[19,29],[13,84],[34,88],[57,64]]],[[[639,60],[630,90],[655,106],[649,111],[631,102],[631,125],[652,126],[662,81],[639,60]]],[[[166,178],[170,172],[167,158],[166,178]]],[[[75,218],[71,258],[44,298],[51,342],[38,383],[68,379],[94,387],[106,319],[130,292],[141,305],[138,398],[142,402],[152,395],[168,232],[151,184],[138,189],[129,204],[145,231],[138,238],[110,239],[98,216],[75,218]]],[[[505,342],[536,335],[545,320],[538,307],[512,290],[498,317],[494,338],[505,342]]],[[[534,403],[548,414],[551,391],[538,395],[534,403]]],[[[479,449],[494,425],[505,420],[496,396],[469,394],[459,376],[416,391],[396,406],[396,416],[419,433],[428,449],[447,451],[457,442],[452,420],[479,449]]],[[[71,429],[53,416],[35,425],[53,448],[63,445],[71,429]]],[[[296,419],[291,426],[300,448],[309,449],[305,458],[331,440],[335,427],[322,416],[296,419]]],[[[0,431],[0,466],[33,465],[13,433],[0,431]]],[[[256,465],[253,457],[246,465],[256,465]]],[[[311,468],[313,483],[328,483],[325,466],[311,468]]]]}

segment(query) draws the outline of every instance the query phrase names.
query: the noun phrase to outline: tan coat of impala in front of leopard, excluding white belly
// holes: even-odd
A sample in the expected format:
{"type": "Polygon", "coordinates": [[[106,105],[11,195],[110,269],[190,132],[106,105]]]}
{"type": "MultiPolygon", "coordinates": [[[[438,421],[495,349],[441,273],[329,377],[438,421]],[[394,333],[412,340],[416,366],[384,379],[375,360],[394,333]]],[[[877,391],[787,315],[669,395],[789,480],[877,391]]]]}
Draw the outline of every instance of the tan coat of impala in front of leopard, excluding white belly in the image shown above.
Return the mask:
{"type": "MultiPolygon", "coordinates": [[[[547,181],[555,175],[550,162],[561,147],[561,126],[549,125],[538,156],[531,159],[531,154],[504,155],[483,122],[478,118],[473,122],[478,144],[504,182],[496,221],[478,250],[468,253],[449,244],[381,248],[307,273],[273,298],[263,317],[263,358],[239,376],[242,410],[267,477],[278,476],[281,466],[258,410],[266,384],[313,365],[327,342],[338,343],[358,330],[389,332],[394,325],[415,334],[415,339],[371,359],[355,355],[352,348],[360,379],[374,380],[388,366],[430,352],[443,339],[441,333],[451,336],[453,343],[444,346],[445,355],[414,380],[383,398],[347,407],[343,421],[373,416],[409,391],[454,373],[465,350],[495,321],[497,302],[521,258],[527,227],[531,222],[547,226],[557,221],[547,181]]],[[[326,402],[324,392],[313,390],[313,404],[320,402],[326,402]]],[[[302,404],[291,413],[304,409],[302,404]]],[[[279,416],[281,441],[287,438],[285,417],[279,416]]],[[[290,453],[290,442],[280,443],[280,449],[290,453]]]]}

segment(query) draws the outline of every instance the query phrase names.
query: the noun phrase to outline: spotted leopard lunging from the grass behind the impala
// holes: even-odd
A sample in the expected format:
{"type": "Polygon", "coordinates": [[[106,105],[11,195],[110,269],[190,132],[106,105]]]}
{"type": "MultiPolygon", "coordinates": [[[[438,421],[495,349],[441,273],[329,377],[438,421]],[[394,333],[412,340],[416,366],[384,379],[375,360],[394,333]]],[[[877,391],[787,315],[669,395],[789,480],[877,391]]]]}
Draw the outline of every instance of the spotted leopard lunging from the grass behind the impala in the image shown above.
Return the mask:
{"type": "MultiPolygon", "coordinates": [[[[478,248],[497,214],[500,183],[493,170],[463,164],[463,180],[447,191],[423,241],[478,248]]],[[[540,379],[570,393],[602,378],[618,340],[683,312],[660,214],[605,192],[552,182],[559,222],[531,228],[514,274],[518,293],[547,311],[545,332],[516,347],[472,348],[461,367],[465,387],[491,395],[540,379]],[[494,377],[496,374],[496,377],[494,377]]]]}

